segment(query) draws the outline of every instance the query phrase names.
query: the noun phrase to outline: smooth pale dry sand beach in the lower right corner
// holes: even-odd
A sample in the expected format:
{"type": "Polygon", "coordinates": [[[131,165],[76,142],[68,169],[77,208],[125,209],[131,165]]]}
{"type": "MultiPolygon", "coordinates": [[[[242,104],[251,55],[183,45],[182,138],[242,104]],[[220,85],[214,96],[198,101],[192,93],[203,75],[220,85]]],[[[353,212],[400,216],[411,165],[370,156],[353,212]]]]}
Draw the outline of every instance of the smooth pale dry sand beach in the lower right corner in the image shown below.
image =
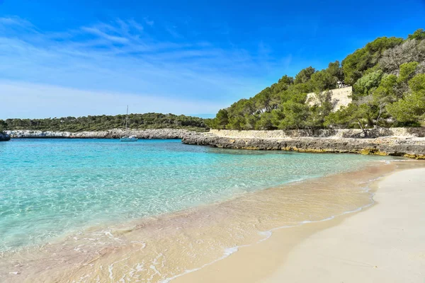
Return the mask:
{"type": "Polygon", "coordinates": [[[174,282],[424,282],[424,177],[402,164],[373,184],[373,206],[273,231],[174,282]]]}

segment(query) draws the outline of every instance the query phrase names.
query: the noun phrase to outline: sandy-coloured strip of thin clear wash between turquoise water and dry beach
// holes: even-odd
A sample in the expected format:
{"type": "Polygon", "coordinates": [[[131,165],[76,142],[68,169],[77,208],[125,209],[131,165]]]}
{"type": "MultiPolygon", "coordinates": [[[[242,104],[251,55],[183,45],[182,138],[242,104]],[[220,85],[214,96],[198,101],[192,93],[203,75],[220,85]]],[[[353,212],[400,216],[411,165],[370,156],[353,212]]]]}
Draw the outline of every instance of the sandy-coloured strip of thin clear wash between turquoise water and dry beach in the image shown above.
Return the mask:
{"type": "Polygon", "coordinates": [[[263,240],[276,227],[327,223],[324,220],[329,217],[370,205],[370,192],[362,187],[394,170],[394,166],[392,162],[380,162],[361,171],[290,183],[227,202],[69,236],[35,253],[29,251],[24,258],[30,260],[13,255],[8,259],[10,265],[6,261],[0,265],[0,278],[8,282],[68,282],[78,278],[92,282],[111,277],[168,282],[188,270],[212,266],[211,262],[238,247],[268,242],[263,240]],[[187,254],[182,254],[182,249],[187,254]],[[154,265],[142,268],[149,262],[154,265]]]}

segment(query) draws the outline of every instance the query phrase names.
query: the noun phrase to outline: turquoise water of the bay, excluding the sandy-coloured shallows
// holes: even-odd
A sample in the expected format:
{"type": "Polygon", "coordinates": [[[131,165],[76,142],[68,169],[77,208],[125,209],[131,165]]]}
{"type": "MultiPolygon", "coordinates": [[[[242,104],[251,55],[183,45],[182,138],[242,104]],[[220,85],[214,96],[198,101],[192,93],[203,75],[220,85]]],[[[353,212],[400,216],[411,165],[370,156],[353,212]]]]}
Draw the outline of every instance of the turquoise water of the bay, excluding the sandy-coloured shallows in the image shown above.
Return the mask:
{"type": "Polygon", "coordinates": [[[179,140],[2,142],[0,250],[390,159],[215,149],[179,140]]]}

